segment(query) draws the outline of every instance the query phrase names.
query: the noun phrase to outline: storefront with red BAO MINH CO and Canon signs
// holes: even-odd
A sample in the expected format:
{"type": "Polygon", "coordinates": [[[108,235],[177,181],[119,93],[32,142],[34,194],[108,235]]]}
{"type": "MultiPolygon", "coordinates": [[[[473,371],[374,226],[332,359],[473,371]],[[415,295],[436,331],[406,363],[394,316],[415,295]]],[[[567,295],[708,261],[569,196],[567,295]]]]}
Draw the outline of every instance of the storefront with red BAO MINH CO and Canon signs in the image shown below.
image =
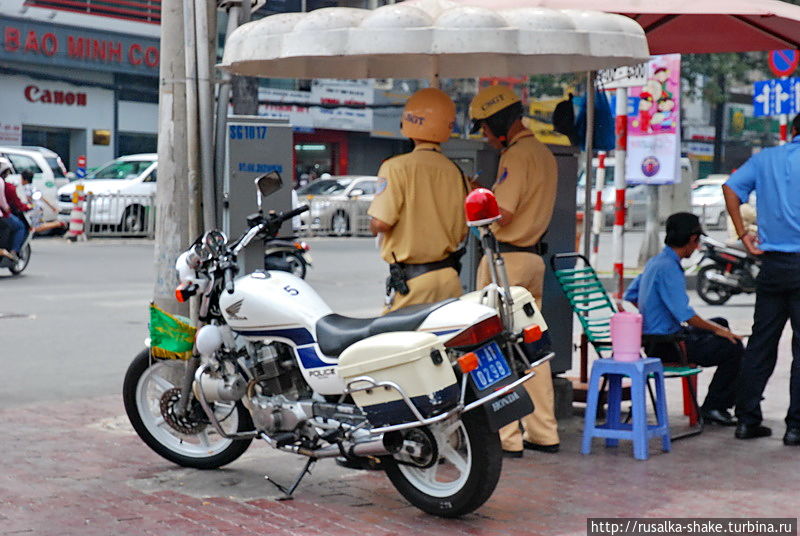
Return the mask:
{"type": "Polygon", "coordinates": [[[158,39],[5,16],[0,39],[0,143],[70,169],[155,151],[158,39]]]}

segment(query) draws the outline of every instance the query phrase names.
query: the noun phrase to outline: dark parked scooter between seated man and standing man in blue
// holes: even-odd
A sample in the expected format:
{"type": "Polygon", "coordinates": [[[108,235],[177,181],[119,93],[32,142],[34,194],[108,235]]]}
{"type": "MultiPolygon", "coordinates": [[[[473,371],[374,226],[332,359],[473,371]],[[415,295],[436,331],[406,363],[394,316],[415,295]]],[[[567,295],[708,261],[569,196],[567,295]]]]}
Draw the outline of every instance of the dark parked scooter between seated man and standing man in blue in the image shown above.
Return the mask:
{"type": "Polygon", "coordinates": [[[710,305],[722,305],[736,294],[756,291],[760,263],[747,251],[702,237],[697,294],[710,305]]]}

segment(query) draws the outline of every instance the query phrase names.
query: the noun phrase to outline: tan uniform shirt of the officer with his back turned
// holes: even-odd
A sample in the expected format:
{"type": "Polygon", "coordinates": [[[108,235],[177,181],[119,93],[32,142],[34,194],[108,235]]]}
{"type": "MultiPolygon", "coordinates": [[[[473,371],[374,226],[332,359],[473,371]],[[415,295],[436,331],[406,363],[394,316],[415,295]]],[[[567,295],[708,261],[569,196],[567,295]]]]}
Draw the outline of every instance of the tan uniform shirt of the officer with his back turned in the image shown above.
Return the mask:
{"type": "Polygon", "coordinates": [[[420,143],[410,153],[390,158],[378,171],[379,190],[368,214],[392,226],[384,234],[381,257],[387,263],[423,264],[445,259],[467,233],[467,190],[458,167],[435,143],[420,143]]]}

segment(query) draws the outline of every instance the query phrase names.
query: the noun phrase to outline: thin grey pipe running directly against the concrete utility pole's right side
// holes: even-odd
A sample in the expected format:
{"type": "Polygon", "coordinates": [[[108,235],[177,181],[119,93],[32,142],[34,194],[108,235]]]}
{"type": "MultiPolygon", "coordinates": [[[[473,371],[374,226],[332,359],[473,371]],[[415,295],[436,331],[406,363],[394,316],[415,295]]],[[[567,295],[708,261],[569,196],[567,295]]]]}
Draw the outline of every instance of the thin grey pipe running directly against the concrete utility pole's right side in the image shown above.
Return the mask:
{"type": "Polygon", "coordinates": [[[197,33],[194,0],[183,0],[183,52],[186,68],[186,163],[189,186],[189,236],[203,230],[200,209],[200,121],[197,117],[197,33]]]}

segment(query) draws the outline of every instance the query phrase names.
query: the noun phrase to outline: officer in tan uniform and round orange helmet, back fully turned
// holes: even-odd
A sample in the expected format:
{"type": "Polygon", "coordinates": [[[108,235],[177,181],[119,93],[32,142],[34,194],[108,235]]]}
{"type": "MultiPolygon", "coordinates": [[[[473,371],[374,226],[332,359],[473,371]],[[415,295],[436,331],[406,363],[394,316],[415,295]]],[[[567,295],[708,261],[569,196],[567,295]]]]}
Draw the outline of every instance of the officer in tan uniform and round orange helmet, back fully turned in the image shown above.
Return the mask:
{"type": "Polygon", "coordinates": [[[456,117],[453,101],[427,88],[408,99],[401,119],[414,150],[386,160],[379,193],[370,205],[370,230],[382,234],[381,257],[389,263],[387,310],[460,296],[459,246],[467,233],[464,198],[468,182],[442,154],[456,117]]]}

